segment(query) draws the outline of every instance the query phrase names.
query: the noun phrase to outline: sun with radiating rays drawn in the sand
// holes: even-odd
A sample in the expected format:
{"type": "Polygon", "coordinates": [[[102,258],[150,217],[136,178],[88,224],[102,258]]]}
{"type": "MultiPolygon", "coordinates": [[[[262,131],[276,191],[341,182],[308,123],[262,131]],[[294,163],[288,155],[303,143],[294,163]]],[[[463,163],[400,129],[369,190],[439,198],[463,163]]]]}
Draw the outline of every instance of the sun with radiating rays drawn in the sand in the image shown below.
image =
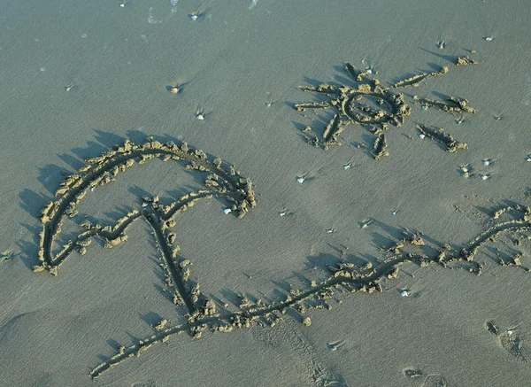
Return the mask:
{"type": "MultiPolygon", "coordinates": [[[[469,57],[457,58],[456,66],[476,65],[469,57]]],[[[375,135],[373,150],[374,159],[381,159],[389,156],[389,143],[385,132],[389,124],[400,127],[404,120],[411,115],[411,107],[405,102],[404,94],[395,93],[392,89],[417,87],[422,81],[429,77],[441,76],[449,73],[449,68],[443,66],[440,71],[433,73],[423,73],[411,78],[398,81],[391,88],[381,86],[381,81],[371,76],[367,71],[358,70],[347,63],[345,73],[349,75],[356,87],[350,88],[346,85],[333,86],[326,83],[318,87],[301,86],[299,89],[318,93],[324,97],[320,102],[305,102],[295,104],[297,112],[304,112],[307,109],[319,110],[332,108],[335,115],[330,120],[321,136],[313,133],[312,128],[306,127],[303,133],[308,143],[316,147],[327,150],[330,146],[341,145],[342,132],[349,125],[361,125],[368,128],[369,132],[375,135]]],[[[413,97],[413,103],[421,104],[427,109],[433,107],[443,112],[450,113],[475,113],[475,109],[468,105],[466,99],[450,97],[447,100],[433,100],[424,97],[413,97]]],[[[429,139],[442,143],[445,150],[456,152],[466,149],[466,143],[460,143],[447,134],[442,128],[434,128],[426,125],[419,125],[419,134],[429,139]]]]}

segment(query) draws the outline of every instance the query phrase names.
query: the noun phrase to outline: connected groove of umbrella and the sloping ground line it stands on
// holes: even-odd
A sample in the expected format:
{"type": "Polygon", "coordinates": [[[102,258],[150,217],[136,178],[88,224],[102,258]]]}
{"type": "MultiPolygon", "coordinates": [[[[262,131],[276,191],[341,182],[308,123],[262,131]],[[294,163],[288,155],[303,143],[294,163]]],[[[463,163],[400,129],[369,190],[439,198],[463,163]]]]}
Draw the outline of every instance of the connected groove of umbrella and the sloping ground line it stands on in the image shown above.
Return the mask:
{"type": "MultiPolygon", "coordinates": [[[[253,324],[274,327],[287,314],[298,316],[299,321],[308,326],[312,324],[308,313],[315,309],[332,306],[330,301],[340,293],[374,293],[384,290],[386,281],[399,276],[399,268],[406,263],[419,267],[431,264],[441,267],[463,268],[472,274],[480,275],[482,264],[475,260],[481,247],[495,242],[495,238],[504,234],[528,234],[531,230],[531,208],[523,205],[505,206],[493,212],[493,222],[484,232],[473,240],[460,246],[451,246],[438,242],[427,242],[419,233],[404,229],[404,236],[383,249],[385,259],[377,263],[366,262],[355,265],[344,259],[338,259],[333,266],[326,268],[324,279],[308,280],[302,289],[284,292],[282,299],[263,301],[250,294],[239,294],[236,310],[219,302],[217,298],[207,298],[197,284],[189,283],[188,259],[179,257],[179,247],[175,244],[172,228],[177,213],[187,210],[197,200],[210,197],[222,197],[229,201],[233,211],[242,217],[256,205],[252,183],[242,178],[234,166],[226,166],[220,159],[210,161],[203,151],[190,150],[186,143],[181,146],[173,143],[159,143],[150,139],[142,145],[127,142],[116,151],[104,153],[101,157],[87,160],[88,166],[80,169],[78,174],[66,178],[57,192],[58,199],[46,205],[42,210],[42,233],[39,250],[41,265],[35,271],[49,271],[58,274],[58,267],[74,251],[87,252],[90,240],[103,238],[107,247],[112,247],[127,240],[125,231],[135,220],[142,218],[154,231],[158,248],[162,253],[166,275],[166,285],[173,289],[173,303],[186,307],[184,316],[188,321],[173,325],[166,319],[154,326],[154,332],[144,337],[137,344],[120,346],[118,352],[105,360],[90,372],[96,378],[104,371],[113,368],[124,360],[138,356],[157,343],[165,343],[173,335],[182,332],[198,339],[205,330],[212,332],[230,332],[236,328],[250,328],[253,324]],[[116,224],[102,227],[85,222],[85,231],[53,254],[52,244],[60,233],[61,221],[65,216],[73,217],[77,213],[76,205],[91,188],[112,182],[114,176],[134,166],[138,161],[161,158],[187,163],[187,169],[204,172],[206,190],[199,190],[184,197],[172,205],[161,205],[158,198],[143,198],[142,209],[128,213],[116,224]],[[504,219],[504,221],[500,221],[504,219]]],[[[528,236],[527,236],[528,238],[528,236]]],[[[499,259],[501,266],[521,267],[522,255],[515,254],[511,259],[499,259]]],[[[528,271],[528,269],[526,269],[528,271]]]]}

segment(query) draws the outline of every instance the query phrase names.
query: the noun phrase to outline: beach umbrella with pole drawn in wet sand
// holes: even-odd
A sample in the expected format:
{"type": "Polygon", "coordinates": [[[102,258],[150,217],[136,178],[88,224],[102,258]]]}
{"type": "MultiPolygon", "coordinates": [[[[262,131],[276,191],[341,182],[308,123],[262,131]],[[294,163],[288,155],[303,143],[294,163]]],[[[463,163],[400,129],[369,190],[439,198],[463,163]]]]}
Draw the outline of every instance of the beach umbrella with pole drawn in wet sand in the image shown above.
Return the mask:
{"type": "Polygon", "coordinates": [[[231,211],[234,210],[242,217],[256,205],[252,182],[243,178],[234,166],[224,166],[221,159],[210,161],[203,151],[191,150],[186,143],[178,146],[150,139],[146,143],[135,145],[127,141],[115,151],[86,161],[89,165],[81,167],[77,174],[67,177],[56,192],[58,198],[42,209],[39,246],[41,265],[35,266],[34,270],[47,270],[50,274],[57,275],[58,268],[65,259],[73,252],[84,255],[95,237],[104,239],[105,247],[108,248],[127,241],[127,227],[142,218],[153,229],[158,248],[165,260],[166,284],[174,287],[174,303],[183,302],[190,314],[196,313],[201,307],[204,308],[207,300],[198,292],[190,295],[187,290],[189,268],[178,261],[179,245],[175,244],[176,236],[172,232],[175,226],[174,217],[192,207],[198,200],[211,197],[224,198],[231,205],[231,211]],[[52,252],[54,242],[61,233],[62,221],[65,217],[73,218],[78,213],[76,207],[89,190],[113,182],[119,173],[152,158],[184,162],[187,163],[186,169],[206,174],[205,189],[189,193],[171,205],[160,204],[158,197],[144,197],[141,210],[127,213],[113,226],[83,221],[81,227],[85,230],[64,244],[60,252],[52,252]]]}

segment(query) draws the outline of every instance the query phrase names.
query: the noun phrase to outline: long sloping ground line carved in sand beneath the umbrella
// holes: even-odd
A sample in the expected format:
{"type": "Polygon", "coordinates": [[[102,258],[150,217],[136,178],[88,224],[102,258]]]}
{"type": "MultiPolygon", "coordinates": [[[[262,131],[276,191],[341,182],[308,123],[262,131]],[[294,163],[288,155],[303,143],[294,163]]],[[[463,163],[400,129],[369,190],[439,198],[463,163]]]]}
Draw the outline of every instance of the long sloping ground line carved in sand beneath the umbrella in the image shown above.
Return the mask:
{"type": "MultiPolygon", "coordinates": [[[[308,281],[303,289],[292,289],[284,292],[284,299],[277,302],[264,302],[250,294],[239,295],[237,311],[230,311],[226,305],[217,305],[211,301],[210,307],[204,312],[189,314],[189,321],[169,326],[166,320],[155,327],[150,337],[143,338],[138,344],[122,346],[109,360],[104,361],[90,373],[92,378],[104,371],[117,366],[128,358],[138,356],[157,343],[165,343],[170,337],[189,332],[194,338],[200,338],[205,330],[211,332],[230,332],[233,329],[249,329],[254,324],[273,328],[282,320],[282,316],[298,316],[305,326],[312,324],[309,313],[316,309],[331,309],[331,300],[341,297],[341,293],[371,294],[384,291],[388,280],[399,277],[400,267],[407,263],[419,267],[435,264],[451,269],[465,269],[473,275],[481,275],[483,264],[475,260],[479,250],[485,244],[496,242],[496,237],[507,233],[529,233],[531,231],[531,208],[514,205],[503,207],[493,213],[493,218],[510,214],[506,221],[496,221],[481,234],[461,246],[450,244],[428,243],[421,234],[404,229],[404,237],[397,240],[383,251],[385,259],[373,265],[354,265],[338,259],[337,264],[327,267],[327,278],[322,281],[308,281]],[[218,311],[218,308],[220,309],[218,311]]],[[[529,236],[527,236],[529,238],[529,236]]],[[[522,255],[516,253],[511,259],[499,259],[502,267],[521,267],[522,255]]]]}

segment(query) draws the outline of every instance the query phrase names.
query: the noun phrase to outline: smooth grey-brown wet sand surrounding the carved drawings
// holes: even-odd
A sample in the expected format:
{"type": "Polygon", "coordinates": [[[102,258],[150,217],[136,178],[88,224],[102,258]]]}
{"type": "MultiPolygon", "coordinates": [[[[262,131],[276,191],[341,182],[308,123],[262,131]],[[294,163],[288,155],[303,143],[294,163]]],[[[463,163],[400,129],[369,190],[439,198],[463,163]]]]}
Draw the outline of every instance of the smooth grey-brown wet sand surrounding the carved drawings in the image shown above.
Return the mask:
{"type": "MultiPolygon", "coordinates": [[[[528,384],[527,2],[245,0],[198,8],[186,0],[54,0],[4,1],[0,11],[1,385],[528,384]],[[471,50],[477,66],[454,65],[471,50]],[[353,88],[347,62],[370,68],[385,87],[450,69],[417,88],[392,89],[404,92],[411,115],[385,132],[389,157],[373,159],[375,137],[359,125],[344,126],[342,146],[327,151],[305,141],[322,135],[335,111],[297,112],[294,104],[327,99],[297,86],[353,88]],[[177,85],[179,93],[168,91],[177,85]],[[466,98],[477,113],[423,110],[415,95],[466,98]],[[416,125],[445,128],[468,147],[444,151],[420,139],[416,125]],[[173,229],[180,259],[193,263],[191,280],[233,311],[238,294],[281,306],[289,290],[308,291],[342,264],[344,275],[353,270],[345,263],[381,267],[393,257],[382,248],[404,238],[404,228],[409,242],[419,232],[429,246],[450,244],[449,256],[460,260],[401,265],[396,279],[377,286],[383,291],[336,290],[326,304],[310,303],[322,309],[279,312],[273,328],[256,321],[228,333],[205,329],[199,339],[185,331],[93,380],[120,346],[135,350],[145,337],[164,336],[154,326],[186,324],[186,311],[173,305],[148,222],[131,222],[127,241],[110,250],[96,238],[50,275],[32,270],[42,265],[38,216],[83,159],[149,136],[186,141],[254,183],[258,204],[242,219],[223,213],[223,198],[205,199],[178,214],[173,229]],[[515,219],[521,227],[481,244],[473,262],[462,259],[460,248],[515,219]]],[[[170,205],[204,189],[203,177],[183,166],[148,160],[88,191],[80,215],[65,217],[58,250],[81,232],[76,220],[113,225],[150,208],[144,196],[170,205]]],[[[427,262],[438,254],[411,243],[403,251],[427,262]]]]}

